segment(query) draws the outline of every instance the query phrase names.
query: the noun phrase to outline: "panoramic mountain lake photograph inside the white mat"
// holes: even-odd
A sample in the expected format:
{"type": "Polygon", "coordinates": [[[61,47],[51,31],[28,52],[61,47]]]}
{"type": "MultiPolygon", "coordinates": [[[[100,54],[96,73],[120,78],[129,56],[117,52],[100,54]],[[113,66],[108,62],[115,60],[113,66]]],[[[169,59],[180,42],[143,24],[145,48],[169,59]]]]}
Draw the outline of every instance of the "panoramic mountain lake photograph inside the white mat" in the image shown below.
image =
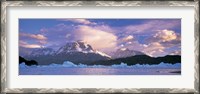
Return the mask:
{"type": "Polygon", "coordinates": [[[19,75],[181,75],[181,19],[19,19],[19,75]]]}

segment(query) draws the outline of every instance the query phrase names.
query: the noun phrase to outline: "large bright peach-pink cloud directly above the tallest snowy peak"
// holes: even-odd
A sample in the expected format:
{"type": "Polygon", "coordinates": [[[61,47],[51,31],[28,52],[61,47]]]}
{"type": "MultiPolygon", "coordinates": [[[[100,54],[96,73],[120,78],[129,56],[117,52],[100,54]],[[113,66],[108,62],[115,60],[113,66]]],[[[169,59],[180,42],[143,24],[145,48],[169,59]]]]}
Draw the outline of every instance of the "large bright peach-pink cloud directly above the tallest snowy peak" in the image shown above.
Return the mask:
{"type": "Polygon", "coordinates": [[[74,38],[76,40],[86,41],[95,49],[114,48],[117,44],[117,36],[90,26],[81,25],[75,30],[74,33],[74,38]]]}

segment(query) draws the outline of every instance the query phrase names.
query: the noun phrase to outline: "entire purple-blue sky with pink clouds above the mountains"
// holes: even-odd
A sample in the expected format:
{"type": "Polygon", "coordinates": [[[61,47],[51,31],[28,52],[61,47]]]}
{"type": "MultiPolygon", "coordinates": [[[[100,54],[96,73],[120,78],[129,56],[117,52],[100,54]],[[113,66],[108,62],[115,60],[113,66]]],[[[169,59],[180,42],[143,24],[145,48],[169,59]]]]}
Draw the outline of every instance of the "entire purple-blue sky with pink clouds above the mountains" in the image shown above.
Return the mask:
{"type": "Polygon", "coordinates": [[[19,19],[20,48],[56,50],[79,40],[104,53],[127,48],[180,55],[181,19],[19,19]]]}

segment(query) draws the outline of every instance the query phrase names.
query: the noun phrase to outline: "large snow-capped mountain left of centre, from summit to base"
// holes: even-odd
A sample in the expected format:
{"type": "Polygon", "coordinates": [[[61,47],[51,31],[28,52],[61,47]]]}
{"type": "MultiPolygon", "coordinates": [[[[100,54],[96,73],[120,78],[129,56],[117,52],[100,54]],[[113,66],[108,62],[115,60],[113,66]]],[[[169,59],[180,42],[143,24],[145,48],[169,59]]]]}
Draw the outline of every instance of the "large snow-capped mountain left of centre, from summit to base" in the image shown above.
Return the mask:
{"type": "Polygon", "coordinates": [[[38,64],[63,63],[64,61],[89,64],[95,61],[111,59],[109,55],[94,50],[92,46],[83,41],[66,43],[58,50],[51,48],[36,49],[25,58],[36,60],[38,64]]]}

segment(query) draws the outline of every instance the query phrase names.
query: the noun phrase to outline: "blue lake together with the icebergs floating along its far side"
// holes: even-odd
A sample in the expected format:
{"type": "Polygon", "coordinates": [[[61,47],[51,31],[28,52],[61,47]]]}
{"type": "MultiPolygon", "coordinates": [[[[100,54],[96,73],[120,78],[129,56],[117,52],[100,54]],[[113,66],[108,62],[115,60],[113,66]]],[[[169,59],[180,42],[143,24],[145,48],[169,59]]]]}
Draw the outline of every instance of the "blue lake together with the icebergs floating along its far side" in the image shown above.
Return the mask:
{"type": "Polygon", "coordinates": [[[64,62],[63,64],[26,66],[22,63],[19,65],[19,75],[181,75],[181,64],[128,66],[121,63],[112,66],[87,66],[64,62]]]}

